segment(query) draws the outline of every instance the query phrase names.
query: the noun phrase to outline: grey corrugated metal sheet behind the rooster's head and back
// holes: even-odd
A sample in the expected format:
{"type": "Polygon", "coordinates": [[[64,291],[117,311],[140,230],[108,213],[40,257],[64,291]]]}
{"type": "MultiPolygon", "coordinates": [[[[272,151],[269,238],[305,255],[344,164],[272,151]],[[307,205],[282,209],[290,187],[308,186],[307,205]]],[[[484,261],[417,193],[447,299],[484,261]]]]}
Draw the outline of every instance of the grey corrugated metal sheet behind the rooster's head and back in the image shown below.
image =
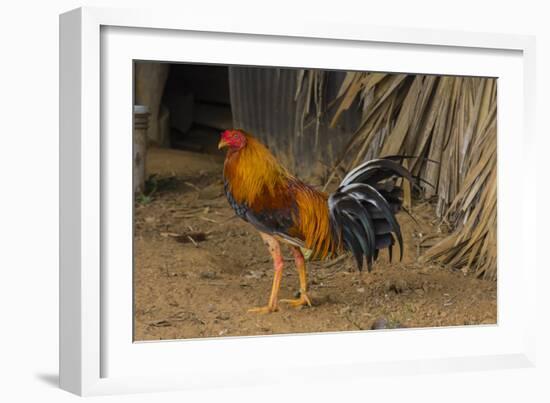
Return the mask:
{"type": "MultiPolygon", "coordinates": [[[[334,111],[323,113],[316,133],[315,105],[309,105],[309,114],[302,122],[311,74],[304,75],[296,97],[300,72],[289,68],[231,66],[229,87],[234,126],[258,137],[294,173],[309,175],[319,162],[330,166],[340,156],[357,128],[360,111],[352,106],[336,128],[329,128],[334,111]]],[[[324,99],[320,103],[323,111],[329,108],[344,76],[345,72],[324,73],[324,99]]]]}

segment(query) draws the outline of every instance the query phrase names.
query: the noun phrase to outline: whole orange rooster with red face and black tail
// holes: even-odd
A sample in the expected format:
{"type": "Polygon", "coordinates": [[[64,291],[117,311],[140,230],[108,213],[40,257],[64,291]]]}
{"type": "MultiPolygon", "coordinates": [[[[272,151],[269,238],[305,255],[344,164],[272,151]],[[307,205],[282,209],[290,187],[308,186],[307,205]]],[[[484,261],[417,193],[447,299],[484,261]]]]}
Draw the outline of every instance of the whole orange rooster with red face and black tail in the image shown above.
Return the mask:
{"type": "Polygon", "coordinates": [[[291,175],[273,154],[243,130],[221,133],[218,148],[228,148],[224,191],[237,216],[260,233],[273,259],[274,278],[268,304],[249,312],[278,310],[283,273],[281,243],[290,246],[298,270],[300,293],[280,302],[294,307],[311,306],[303,250],[317,259],[351,252],[362,270],[370,271],[378,252],[387,248],[389,259],[397,240],[400,259],[403,239],[395,213],[402,203],[402,189],[395,178],[412,175],[400,164],[404,156],[368,161],[349,172],[332,194],[320,192],[291,175]]]}

